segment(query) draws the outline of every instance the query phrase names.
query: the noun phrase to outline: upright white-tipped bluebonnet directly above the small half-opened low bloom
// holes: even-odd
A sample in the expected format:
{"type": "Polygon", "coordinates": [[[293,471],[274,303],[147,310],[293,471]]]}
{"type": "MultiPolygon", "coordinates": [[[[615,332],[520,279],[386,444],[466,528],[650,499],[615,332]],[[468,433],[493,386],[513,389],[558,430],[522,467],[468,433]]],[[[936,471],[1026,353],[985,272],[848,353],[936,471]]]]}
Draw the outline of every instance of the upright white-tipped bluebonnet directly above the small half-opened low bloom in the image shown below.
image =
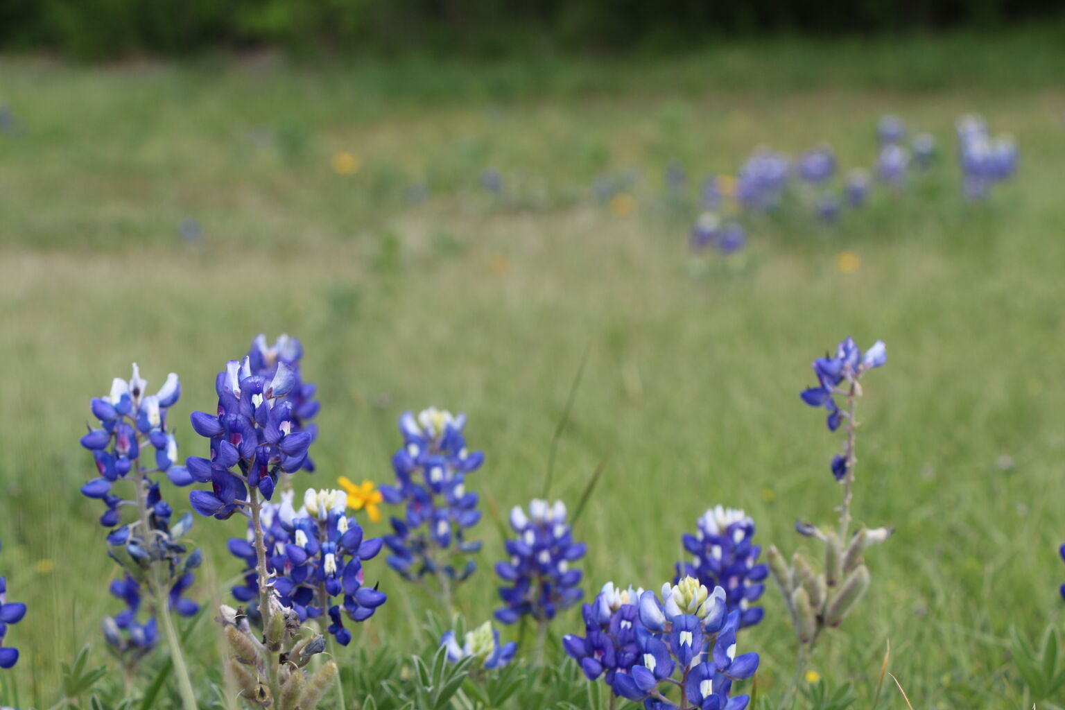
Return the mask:
{"type": "Polygon", "coordinates": [[[534,499],[527,515],[514,506],[510,527],[518,538],[504,543],[510,559],[495,564],[495,574],[509,584],[499,588],[506,606],[496,610],[495,617],[513,624],[527,614],[542,623],[579,601],[580,571],[571,569],[570,563],[585,556],[587,545],[573,542],[566,505],[534,499]]]}

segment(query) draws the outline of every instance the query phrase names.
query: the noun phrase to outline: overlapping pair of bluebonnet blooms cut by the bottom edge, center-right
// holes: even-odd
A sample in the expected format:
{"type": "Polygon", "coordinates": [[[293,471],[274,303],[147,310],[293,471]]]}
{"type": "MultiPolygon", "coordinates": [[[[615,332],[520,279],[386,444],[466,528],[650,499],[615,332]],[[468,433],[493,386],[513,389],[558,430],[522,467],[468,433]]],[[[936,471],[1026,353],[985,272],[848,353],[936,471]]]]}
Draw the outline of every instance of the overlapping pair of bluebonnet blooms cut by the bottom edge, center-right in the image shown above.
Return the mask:
{"type": "Polygon", "coordinates": [[[734,681],[754,675],[757,654],[736,655],[738,611],[727,612],[720,587],[709,592],[687,577],[654,592],[604,588],[585,606],[585,638],[562,645],[590,680],[603,676],[616,695],[653,710],[742,710],[734,681]]]}

